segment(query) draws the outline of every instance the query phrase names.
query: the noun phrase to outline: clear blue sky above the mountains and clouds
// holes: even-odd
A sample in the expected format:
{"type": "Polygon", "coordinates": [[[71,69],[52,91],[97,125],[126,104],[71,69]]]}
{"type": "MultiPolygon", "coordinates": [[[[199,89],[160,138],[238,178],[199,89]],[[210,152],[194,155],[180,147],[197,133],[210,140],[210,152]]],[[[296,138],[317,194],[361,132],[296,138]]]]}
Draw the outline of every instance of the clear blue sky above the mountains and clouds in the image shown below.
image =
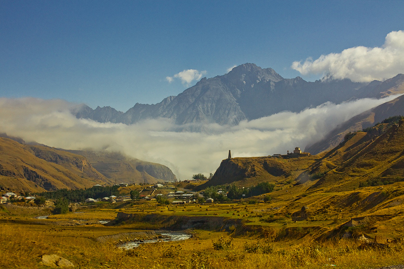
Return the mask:
{"type": "Polygon", "coordinates": [[[210,78],[243,63],[314,81],[292,63],[381,47],[403,14],[404,1],[1,0],[0,97],[125,112],[194,85],[183,70],[210,78]]]}

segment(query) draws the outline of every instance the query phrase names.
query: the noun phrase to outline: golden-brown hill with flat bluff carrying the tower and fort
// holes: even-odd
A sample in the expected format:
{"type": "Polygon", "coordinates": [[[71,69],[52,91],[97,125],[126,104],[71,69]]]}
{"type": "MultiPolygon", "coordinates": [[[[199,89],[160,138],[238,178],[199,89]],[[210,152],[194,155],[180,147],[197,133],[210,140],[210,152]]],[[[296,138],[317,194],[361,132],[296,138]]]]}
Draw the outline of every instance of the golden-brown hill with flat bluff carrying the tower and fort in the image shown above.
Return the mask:
{"type": "Polygon", "coordinates": [[[351,133],[331,150],[318,155],[285,154],[278,157],[224,159],[207,183],[198,186],[261,182],[278,187],[307,185],[307,191],[343,192],[359,187],[404,181],[404,120],[393,117],[366,131],[351,133]]]}

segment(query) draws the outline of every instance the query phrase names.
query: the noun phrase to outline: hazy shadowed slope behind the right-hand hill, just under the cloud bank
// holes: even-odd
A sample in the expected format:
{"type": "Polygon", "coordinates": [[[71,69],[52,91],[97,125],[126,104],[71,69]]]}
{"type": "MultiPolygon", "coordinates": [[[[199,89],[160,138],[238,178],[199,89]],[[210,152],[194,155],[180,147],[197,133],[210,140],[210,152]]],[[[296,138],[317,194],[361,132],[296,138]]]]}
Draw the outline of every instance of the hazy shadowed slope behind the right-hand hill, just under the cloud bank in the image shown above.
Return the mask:
{"type": "MultiPolygon", "coordinates": [[[[391,81],[388,83],[391,83],[391,81]]],[[[384,84],[384,82],[382,84],[384,84]]],[[[395,87],[390,87],[390,85],[388,87],[390,87],[390,89],[399,87],[404,88],[404,75],[398,77],[396,84],[398,85],[395,85],[395,87]],[[401,84],[398,84],[400,82],[401,84]]],[[[384,119],[398,115],[404,116],[404,95],[352,117],[348,121],[331,130],[322,140],[306,146],[305,151],[312,154],[318,154],[324,150],[329,150],[341,143],[346,133],[369,128],[384,119]]]]}

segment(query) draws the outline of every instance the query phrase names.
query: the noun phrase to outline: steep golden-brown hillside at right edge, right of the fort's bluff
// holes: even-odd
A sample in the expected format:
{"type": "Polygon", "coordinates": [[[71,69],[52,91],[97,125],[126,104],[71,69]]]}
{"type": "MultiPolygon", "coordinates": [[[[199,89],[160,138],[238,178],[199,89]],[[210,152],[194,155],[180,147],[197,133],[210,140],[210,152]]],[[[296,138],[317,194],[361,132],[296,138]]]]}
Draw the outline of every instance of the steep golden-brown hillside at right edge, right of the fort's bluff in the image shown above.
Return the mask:
{"type": "Polygon", "coordinates": [[[329,151],[315,164],[328,164],[330,171],[313,186],[330,191],[391,184],[403,180],[404,125],[379,124],[358,132],[329,151]],[[381,134],[380,134],[381,133],[381,134]],[[333,167],[334,166],[334,167],[333,167]]]}

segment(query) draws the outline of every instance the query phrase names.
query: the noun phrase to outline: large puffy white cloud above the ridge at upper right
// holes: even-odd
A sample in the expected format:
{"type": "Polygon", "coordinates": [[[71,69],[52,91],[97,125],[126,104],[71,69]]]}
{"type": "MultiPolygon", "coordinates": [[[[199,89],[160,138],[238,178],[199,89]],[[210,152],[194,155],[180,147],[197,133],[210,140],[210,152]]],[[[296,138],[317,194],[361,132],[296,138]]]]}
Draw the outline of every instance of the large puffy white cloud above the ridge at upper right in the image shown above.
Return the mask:
{"type": "Polygon", "coordinates": [[[302,75],[323,74],[357,82],[384,81],[404,73],[404,31],[387,34],[382,47],[351,47],[322,55],[315,61],[308,58],[304,63],[293,62],[291,68],[302,75]]]}

